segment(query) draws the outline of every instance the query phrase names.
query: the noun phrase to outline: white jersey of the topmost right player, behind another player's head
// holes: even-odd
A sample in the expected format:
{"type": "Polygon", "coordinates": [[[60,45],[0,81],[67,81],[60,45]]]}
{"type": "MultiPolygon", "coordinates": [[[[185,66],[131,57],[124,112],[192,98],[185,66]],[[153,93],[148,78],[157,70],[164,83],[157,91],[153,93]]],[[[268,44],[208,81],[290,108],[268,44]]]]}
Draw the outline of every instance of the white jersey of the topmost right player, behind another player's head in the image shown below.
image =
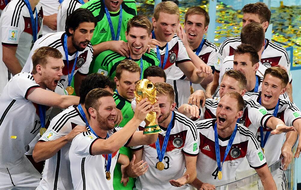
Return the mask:
{"type": "MultiPolygon", "coordinates": [[[[272,41],[265,39],[265,49],[261,55],[261,62],[269,66],[282,65],[287,69],[290,81],[292,76],[290,74],[290,58],[285,48],[273,43],[272,41]]],[[[217,56],[220,63],[224,62],[225,57],[234,55],[234,51],[241,44],[240,36],[227,38],[220,46],[217,52],[217,56]]],[[[219,70],[219,66],[216,67],[219,70]]]]}

